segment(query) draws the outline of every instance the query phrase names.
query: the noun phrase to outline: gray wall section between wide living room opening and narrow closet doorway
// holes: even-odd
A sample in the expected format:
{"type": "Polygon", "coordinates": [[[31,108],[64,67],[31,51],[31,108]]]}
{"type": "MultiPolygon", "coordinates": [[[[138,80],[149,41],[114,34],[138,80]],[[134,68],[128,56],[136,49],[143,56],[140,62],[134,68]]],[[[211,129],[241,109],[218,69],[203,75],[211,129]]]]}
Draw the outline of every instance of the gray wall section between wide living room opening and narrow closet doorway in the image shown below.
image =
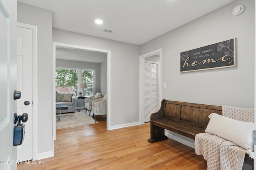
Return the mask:
{"type": "Polygon", "coordinates": [[[139,46],[53,29],[53,41],[111,51],[111,125],[139,121],[139,46]]]}

